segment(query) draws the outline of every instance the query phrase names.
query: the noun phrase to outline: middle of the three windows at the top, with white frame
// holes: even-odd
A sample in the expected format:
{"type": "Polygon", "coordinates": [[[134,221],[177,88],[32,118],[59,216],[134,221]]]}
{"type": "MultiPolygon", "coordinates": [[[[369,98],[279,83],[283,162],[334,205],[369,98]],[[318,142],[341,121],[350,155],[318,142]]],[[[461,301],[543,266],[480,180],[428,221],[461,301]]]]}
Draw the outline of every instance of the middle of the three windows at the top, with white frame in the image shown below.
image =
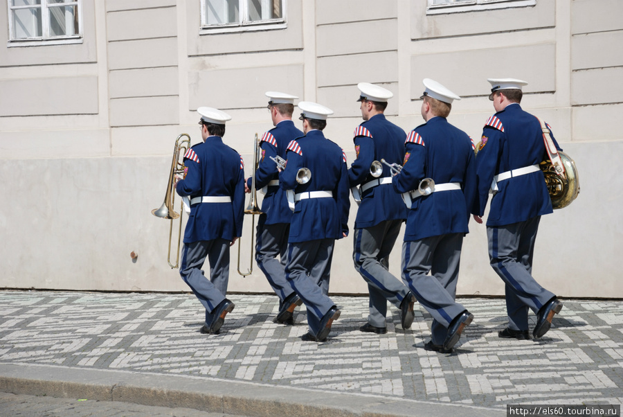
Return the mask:
{"type": "Polygon", "coordinates": [[[201,0],[205,33],[285,28],[286,0],[201,0]]]}

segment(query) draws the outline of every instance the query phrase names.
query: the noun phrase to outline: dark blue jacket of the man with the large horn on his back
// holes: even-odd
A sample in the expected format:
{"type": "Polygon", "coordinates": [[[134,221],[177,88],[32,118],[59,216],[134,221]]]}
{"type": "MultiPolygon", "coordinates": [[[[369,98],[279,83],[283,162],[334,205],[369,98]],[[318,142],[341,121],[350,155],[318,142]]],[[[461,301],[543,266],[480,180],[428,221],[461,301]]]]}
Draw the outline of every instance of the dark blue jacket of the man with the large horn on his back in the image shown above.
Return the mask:
{"type": "MultiPolygon", "coordinates": [[[[550,136],[560,150],[554,136],[551,133],[550,136]]],[[[482,130],[476,158],[479,199],[473,207],[473,214],[485,214],[495,175],[535,165],[545,159],[549,157],[543,143],[541,124],[535,116],[524,112],[518,103],[508,105],[489,118],[482,130]]],[[[506,179],[497,185],[498,192],[491,198],[488,227],[523,222],[537,215],[552,213],[552,200],[543,172],[506,179]]]]}

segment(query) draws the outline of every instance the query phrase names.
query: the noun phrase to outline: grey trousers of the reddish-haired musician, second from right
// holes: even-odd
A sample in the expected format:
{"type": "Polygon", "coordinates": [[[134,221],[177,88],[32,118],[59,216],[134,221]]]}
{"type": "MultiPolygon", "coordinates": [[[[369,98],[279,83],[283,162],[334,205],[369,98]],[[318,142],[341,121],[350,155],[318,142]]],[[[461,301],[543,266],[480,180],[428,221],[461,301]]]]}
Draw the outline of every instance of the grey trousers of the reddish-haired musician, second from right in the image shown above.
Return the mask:
{"type": "Polygon", "coordinates": [[[444,344],[450,323],[466,310],[455,301],[463,234],[432,236],[402,245],[402,279],[433,317],[431,333],[436,345],[444,344]]]}

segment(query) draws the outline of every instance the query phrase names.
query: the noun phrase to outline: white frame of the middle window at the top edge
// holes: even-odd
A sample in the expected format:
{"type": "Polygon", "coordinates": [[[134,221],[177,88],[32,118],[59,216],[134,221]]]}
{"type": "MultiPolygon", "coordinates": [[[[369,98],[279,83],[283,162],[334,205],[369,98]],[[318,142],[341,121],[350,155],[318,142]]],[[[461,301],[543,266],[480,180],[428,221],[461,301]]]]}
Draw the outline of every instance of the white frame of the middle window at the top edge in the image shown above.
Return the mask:
{"type": "MultiPolygon", "coordinates": [[[[271,0],[262,1],[269,3],[271,0]]],[[[199,35],[287,28],[287,0],[281,0],[282,17],[280,19],[249,21],[249,0],[238,0],[238,5],[240,10],[240,21],[228,24],[208,24],[206,22],[206,8],[208,7],[208,0],[201,0],[201,29],[199,30],[199,35]]]]}

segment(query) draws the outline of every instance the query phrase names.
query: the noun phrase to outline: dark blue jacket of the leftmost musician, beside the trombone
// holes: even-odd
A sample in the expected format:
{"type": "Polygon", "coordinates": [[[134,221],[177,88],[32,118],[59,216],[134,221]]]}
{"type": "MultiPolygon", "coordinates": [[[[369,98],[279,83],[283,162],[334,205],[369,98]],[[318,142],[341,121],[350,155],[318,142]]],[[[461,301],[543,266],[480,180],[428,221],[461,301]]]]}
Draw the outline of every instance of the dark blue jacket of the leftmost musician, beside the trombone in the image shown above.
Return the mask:
{"type": "Polygon", "coordinates": [[[210,136],[186,152],[186,178],[177,183],[181,196],[229,196],[229,203],[198,203],[190,206],[184,243],[242,236],[244,216],[244,170],[240,154],[210,136]]]}

